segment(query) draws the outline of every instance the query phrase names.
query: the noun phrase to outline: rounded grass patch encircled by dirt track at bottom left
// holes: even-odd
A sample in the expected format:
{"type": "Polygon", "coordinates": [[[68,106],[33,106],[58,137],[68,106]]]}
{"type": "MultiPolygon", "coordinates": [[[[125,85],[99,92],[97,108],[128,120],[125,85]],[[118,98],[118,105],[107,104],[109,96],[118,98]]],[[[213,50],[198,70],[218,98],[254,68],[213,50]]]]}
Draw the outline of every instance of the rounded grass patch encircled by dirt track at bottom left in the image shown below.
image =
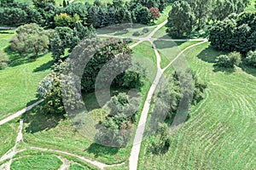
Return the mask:
{"type": "Polygon", "coordinates": [[[15,159],[11,164],[12,170],[44,169],[57,170],[61,167],[62,161],[56,156],[25,156],[15,159]]]}

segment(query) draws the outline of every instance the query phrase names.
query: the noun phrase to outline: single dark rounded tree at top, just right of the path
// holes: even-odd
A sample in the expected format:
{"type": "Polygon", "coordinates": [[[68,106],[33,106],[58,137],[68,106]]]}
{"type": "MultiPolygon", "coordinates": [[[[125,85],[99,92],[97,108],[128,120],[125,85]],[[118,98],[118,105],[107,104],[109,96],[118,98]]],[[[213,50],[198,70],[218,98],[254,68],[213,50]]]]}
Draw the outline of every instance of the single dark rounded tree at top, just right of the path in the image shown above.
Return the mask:
{"type": "Polygon", "coordinates": [[[195,24],[195,15],[185,1],[173,3],[169,13],[167,32],[174,37],[182,37],[184,33],[189,34],[195,24]]]}

